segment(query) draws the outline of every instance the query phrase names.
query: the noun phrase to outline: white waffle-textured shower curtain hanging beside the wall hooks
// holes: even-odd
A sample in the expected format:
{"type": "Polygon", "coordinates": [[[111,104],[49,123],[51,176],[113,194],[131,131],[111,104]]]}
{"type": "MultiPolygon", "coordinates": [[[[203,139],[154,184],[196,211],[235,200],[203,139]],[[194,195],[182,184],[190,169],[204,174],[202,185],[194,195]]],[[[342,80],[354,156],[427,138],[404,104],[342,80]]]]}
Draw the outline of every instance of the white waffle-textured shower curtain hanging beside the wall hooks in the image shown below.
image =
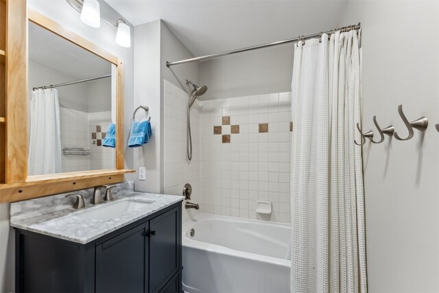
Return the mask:
{"type": "Polygon", "coordinates": [[[359,38],[294,47],[291,292],[366,292],[359,38]]]}

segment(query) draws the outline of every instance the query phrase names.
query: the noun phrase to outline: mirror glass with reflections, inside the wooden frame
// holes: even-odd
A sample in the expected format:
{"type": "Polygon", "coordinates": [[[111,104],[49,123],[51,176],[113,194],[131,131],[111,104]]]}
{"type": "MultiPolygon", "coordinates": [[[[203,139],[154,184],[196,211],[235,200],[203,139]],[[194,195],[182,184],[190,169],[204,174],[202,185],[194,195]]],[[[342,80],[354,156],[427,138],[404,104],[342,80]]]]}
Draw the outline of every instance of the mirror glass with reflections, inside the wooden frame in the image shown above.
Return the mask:
{"type": "Polygon", "coordinates": [[[29,22],[29,176],[115,168],[112,72],[107,60],[29,22]]]}

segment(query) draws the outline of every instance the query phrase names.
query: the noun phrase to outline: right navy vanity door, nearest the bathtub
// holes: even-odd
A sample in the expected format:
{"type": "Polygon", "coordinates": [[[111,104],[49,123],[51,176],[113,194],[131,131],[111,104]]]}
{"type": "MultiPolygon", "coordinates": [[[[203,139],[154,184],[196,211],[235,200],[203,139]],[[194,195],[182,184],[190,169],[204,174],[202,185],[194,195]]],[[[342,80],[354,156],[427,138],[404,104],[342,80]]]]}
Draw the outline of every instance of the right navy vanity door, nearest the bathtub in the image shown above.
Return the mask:
{"type": "Polygon", "coordinates": [[[180,270],[179,209],[150,220],[150,292],[158,292],[180,270]]]}

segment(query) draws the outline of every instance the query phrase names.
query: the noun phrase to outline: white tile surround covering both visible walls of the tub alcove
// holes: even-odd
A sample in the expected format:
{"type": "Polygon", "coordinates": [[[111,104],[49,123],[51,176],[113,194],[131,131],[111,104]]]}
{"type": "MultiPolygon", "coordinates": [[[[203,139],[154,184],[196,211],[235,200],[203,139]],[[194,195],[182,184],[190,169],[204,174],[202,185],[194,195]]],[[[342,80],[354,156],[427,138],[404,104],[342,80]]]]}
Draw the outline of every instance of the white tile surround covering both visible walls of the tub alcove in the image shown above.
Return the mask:
{"type": "MultiPolygon", "coordinates": [[[[165,80],[165,194],[181,195],[190,183],[202,213],[290,222],[290,93],[198,101],[191,108],[191,163],[188,99],[165,80]],[[272,214],[257,214],[257,200],[270,200],[272,214]]],[[[183,211],[184,222],[197,213],[183,211]]]]}

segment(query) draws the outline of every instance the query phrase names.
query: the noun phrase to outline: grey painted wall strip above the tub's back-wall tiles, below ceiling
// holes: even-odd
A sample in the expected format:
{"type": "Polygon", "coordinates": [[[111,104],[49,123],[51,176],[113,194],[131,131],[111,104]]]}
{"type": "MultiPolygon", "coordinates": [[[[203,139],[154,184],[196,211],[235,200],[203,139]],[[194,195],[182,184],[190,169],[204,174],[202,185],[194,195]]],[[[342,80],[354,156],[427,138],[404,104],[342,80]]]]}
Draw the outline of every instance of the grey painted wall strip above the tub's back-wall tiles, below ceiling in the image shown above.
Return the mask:
{"type": "Polygon", "coordinates": [[[203,99],[291,91],[293,52],[287,44],[200,62],[200,83],[209,87],[203,99]]]}

